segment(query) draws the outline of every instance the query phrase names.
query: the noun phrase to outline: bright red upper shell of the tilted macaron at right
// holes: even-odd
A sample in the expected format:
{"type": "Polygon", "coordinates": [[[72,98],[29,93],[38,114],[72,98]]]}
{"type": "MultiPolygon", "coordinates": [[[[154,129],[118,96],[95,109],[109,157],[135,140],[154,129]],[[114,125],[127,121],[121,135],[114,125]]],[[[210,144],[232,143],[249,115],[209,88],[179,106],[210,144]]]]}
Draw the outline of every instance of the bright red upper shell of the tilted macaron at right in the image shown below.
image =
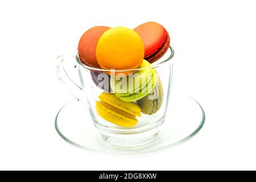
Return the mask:
{"type": "Polygon", "coordinates": [[[167,31],[156,22],[147,22],[134,28],[144,43],[144,57],[151,56],[163,45],[166,40],[167,31]]]}

